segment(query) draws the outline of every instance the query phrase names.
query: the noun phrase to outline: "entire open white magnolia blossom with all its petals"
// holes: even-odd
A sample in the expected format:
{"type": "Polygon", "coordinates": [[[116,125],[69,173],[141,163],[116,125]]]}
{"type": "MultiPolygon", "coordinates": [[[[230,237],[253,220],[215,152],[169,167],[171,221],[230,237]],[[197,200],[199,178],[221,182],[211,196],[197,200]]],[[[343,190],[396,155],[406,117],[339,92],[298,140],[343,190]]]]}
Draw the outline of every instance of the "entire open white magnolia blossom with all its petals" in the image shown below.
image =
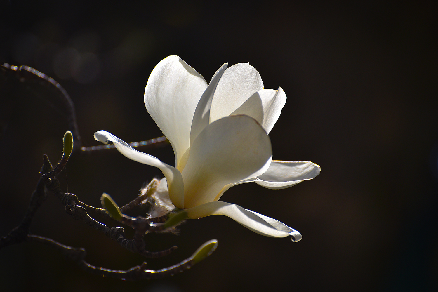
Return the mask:
{"type": "Polygon", "coordinates": [[[318,176],[308,161],[272,160],[269,131],[286,103],[286,94],[264,89],[249,63],[216,71],[209,84],[178,56],[168,56],[152,70],[145,106],[175,152],[175,167],[134,150],[106,132],[97,141],[112,141],[128,158],[158,167],[165,178],[154,196],[165,206],[184,209],[189,218],[225,215],[265,236],[299,241],[301,234],[275,219],[219,201],[231,186],[256,182],[283,189],[318,176]]]}

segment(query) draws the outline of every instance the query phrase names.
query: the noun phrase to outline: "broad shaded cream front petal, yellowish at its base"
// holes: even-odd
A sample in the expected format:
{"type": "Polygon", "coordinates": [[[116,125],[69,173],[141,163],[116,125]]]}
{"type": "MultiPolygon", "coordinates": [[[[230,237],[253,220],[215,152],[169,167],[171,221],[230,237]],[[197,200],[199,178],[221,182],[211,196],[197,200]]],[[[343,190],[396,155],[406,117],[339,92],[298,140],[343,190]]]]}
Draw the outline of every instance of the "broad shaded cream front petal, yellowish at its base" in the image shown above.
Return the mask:
{"type": "Polygon", "coordinates": [[[193,141],[182,172],[184,208],[213,201],[229,183],[261,175],[271,159],[269,136],[253,118],[227,116],[209,124],[193,141]]]}

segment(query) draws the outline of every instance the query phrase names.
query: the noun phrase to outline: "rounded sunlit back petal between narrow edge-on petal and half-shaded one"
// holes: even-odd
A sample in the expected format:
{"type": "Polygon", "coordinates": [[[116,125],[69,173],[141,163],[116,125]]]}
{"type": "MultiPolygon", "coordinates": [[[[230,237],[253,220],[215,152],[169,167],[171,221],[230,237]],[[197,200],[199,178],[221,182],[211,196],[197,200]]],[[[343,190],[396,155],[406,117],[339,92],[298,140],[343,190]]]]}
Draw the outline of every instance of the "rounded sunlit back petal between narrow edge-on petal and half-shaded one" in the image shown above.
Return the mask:
{"type": "Polygon", "coordinates": [[[249,63],[239,63],[226,69],[213,96],[210,123],[229,116],[261,89],[263,81],[260,74],[249,63]]]}

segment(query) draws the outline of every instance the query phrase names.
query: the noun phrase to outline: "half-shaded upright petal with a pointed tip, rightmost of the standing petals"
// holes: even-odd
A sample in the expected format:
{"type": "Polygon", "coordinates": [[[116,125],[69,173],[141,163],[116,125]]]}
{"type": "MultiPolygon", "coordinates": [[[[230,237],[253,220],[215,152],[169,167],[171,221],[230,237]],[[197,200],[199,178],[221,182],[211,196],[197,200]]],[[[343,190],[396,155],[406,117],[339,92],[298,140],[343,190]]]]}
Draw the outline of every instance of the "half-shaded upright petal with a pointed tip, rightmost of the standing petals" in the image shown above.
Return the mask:
{"type": "Polygon", "coordinates": [[[278,90],[262,89],[251,95],[243,105],[231,114],[252,116],[269,134],[277,122],[285,103],[286,93],[281,87],[278,90]]]}

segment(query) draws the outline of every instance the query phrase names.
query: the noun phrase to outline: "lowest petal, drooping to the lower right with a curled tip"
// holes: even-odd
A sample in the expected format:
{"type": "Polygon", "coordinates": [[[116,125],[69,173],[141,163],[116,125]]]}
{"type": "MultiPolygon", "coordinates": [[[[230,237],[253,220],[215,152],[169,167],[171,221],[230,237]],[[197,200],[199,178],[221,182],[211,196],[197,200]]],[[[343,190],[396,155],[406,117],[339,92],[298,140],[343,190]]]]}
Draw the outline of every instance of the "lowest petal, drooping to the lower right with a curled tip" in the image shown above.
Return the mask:
{"type": "Polygon", "coordinates": [[[275,219],[258,214],[257,212],[244,209],[236,204],[226,202],[209,202],[194,208],[184,210],[189,218],[201,218],[210,215],[225,215],[246,228],[270,237],[292,236],[292,241],[301,240],[301,234],[297,230],[275,219]]]}

